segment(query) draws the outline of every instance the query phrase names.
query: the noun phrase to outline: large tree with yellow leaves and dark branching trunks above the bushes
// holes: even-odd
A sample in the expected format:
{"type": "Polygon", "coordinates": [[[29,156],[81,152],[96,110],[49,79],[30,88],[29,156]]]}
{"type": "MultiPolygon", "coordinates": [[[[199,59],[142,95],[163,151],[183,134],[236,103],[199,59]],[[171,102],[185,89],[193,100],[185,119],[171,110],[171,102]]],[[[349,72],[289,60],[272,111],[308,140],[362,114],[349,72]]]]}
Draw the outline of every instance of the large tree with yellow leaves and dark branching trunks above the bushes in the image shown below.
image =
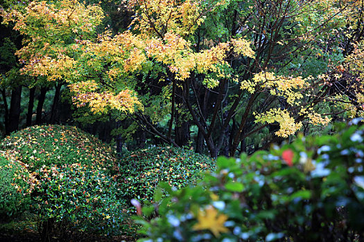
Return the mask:
{"type": "Polygon", "coordinates": [[[212,157],[234,156],[239,145],[248,151],[257,133],[268,135],[252,150],[277,141],[270,133],[287,138],[326,125],[330,111],[320,105],[334,79],[324,74],[343,62],[334,46],[345,16],[362,8],[328,0],[125,3],[135,16],[116,34],[98,30],[100,7],[76,0],[33,1],[1,15],[26,36],[17,53],[23,73],[65,80],[78,107],[120,111],[175,146],[187,145],[193,124],[196,149],[206,145],[212,157]]]}

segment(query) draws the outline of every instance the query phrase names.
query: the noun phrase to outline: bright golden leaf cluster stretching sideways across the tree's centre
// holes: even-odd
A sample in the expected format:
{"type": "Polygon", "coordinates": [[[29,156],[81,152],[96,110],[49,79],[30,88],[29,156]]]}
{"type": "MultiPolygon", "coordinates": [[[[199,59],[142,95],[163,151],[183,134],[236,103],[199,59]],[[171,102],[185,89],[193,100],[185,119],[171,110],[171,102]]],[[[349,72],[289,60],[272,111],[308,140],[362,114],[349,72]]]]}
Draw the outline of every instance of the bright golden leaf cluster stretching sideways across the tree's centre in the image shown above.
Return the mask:
{"type": "MultiPolygon", "coordinates": [[[[254,57],[250,42],[245,39],[234,39],[219,44],[209,50],[196,53],[191,48],[191,42],[175,32],[166,32],[164,38],[141,37],[126,31],[110,37],[109,33],[99,37],[97,43],[86,43],[82,55],[97,55],[97,58],[107,58],[112,64],[109,69],[111,77],[117,73],[141,71],[148,59],[154,59],[168,66],[175,73],[177,80],[186,80],[191,72],[208,73],[218,71],[216,64],[227,64],[225,59],[230,51],[239,55],[254,57]]],[[[89,59],[92,65],[95,59],[89,59]]]]}

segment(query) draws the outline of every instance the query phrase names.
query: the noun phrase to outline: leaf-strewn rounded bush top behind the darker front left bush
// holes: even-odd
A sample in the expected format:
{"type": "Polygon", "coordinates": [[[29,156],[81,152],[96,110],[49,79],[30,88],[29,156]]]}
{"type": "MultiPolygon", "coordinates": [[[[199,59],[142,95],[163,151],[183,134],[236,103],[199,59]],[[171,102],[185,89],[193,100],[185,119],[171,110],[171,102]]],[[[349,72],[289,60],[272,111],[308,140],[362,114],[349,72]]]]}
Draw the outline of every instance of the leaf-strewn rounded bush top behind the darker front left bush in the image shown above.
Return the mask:
{"type": "Polygon", "coordinates": [[[31,171],[43,165],[80,163],[111,169],[114,152],[111,147],[76,127],[35,126],[12,133],[0,144],[0,150],[10,150],[31,171]]]}

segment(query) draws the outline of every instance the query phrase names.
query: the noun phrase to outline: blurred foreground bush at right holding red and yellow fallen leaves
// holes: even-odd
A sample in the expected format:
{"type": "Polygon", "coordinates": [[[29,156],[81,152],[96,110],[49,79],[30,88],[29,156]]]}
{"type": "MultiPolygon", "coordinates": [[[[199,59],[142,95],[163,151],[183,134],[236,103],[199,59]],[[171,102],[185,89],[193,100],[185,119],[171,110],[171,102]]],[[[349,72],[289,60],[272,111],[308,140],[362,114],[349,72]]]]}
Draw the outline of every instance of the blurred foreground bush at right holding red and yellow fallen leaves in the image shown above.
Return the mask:
{"type": "Polygon", "coordinates": [[[157,189],[136,217],[141,241],[363,241],[363,129],[220,157],[200,185],[162,185],[169,196],[157,189]]]}

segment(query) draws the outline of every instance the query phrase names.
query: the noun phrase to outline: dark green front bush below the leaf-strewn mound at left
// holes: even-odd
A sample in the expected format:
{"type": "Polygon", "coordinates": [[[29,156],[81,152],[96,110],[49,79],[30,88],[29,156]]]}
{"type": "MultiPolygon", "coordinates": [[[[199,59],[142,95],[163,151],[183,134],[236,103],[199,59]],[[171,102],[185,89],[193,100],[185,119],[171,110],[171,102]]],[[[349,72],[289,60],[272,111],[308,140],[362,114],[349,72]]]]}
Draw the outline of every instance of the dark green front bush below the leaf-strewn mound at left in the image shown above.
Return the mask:
{"type": "Polygon", "coordinates": [[[114,234],[123,221],[114,180],[80,164],[43,167],[33,174],[32,212],[43,238],[74,239],[75,234],[114,234]]]}

